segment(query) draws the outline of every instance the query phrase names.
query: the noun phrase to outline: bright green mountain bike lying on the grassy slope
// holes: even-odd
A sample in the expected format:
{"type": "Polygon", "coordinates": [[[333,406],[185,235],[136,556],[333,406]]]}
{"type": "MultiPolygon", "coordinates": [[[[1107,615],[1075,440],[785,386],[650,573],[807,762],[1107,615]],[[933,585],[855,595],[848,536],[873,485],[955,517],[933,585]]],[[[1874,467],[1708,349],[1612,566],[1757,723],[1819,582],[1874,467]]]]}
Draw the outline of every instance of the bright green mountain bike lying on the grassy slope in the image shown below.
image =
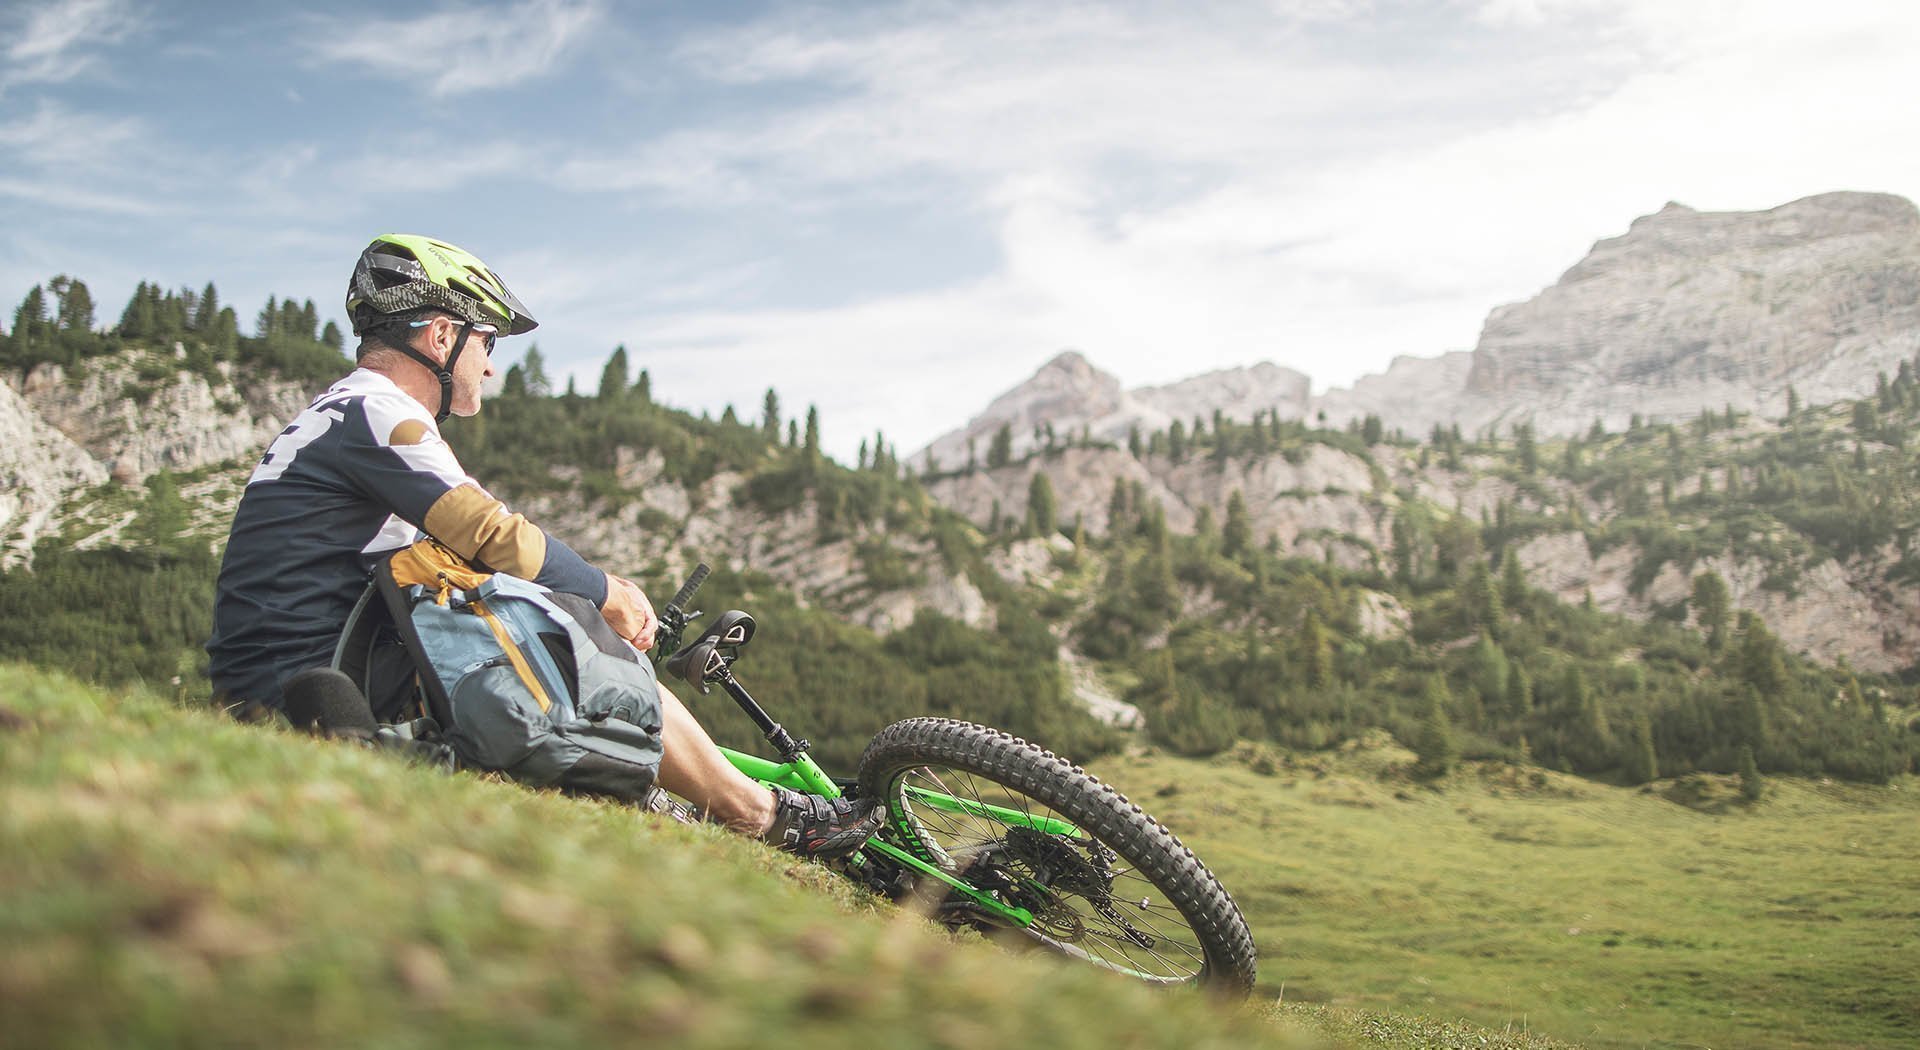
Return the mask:
{"type": "Polygon", "coordinates": [[[660,610],[662,666],[701,693],[720,685],[780,760],[720,749],[768,785],[874,799],[885,823],[833,866],[952,929],[1083,960],[1154,985],[1227,996],[1254,987],[1254,937],[1219,881],[1112,785],[1027,741],[950,718],[908,718],[879,731],[858,776],[831,777],[808,743],[753,699],[733,664],[755,620],[728,610],[682,645],[693,570],[660,610]]]}

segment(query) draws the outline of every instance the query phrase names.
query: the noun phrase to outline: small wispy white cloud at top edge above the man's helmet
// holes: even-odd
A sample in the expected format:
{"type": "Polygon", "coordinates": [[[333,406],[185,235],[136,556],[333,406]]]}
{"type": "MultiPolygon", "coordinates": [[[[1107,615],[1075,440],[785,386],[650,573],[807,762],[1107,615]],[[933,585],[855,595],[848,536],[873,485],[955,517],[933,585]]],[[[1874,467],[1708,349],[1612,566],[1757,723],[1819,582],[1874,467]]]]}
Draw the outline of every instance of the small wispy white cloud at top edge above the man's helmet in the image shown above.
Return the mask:
{"type": "Polygon", "coordinates": [[[599,19],[599,0],[526,0],[497,12],[455,6],[394,19],[330,17],[313,33],[311,52],[323,61],[455,96],[549,73],[599,19]]]}

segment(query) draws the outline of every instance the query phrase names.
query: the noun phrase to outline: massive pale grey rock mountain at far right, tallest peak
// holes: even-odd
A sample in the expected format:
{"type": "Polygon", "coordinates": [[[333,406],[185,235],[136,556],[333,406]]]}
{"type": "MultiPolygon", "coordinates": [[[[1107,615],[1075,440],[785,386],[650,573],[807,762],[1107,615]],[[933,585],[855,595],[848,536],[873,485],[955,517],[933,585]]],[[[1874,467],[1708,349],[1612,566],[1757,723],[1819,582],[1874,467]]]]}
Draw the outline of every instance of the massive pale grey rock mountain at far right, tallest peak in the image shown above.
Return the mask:
{"type": "Polygon", "coordinates": [[[1540,296],[1496,309],[1473,353],[1463,424],[1780,415],[1857,397],[1920,351],[1920,211],[1822,194],[1772,211],[1668,203],[1601,240],[1540,296]]]}

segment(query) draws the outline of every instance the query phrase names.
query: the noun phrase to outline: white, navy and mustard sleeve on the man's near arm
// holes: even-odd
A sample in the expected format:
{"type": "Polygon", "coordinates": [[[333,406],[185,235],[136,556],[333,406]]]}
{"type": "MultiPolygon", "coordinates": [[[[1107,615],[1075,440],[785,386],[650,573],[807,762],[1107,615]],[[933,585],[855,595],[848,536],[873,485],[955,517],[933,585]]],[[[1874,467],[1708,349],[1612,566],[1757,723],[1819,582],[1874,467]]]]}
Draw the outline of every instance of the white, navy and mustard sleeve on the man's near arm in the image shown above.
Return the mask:
{"type": "Polygon", "coordinates": [[[607,601],[607,574],[480,488],[411,401],[367,397],[365,418],[344,468],[367,499],[493,572],[607,601]]]}

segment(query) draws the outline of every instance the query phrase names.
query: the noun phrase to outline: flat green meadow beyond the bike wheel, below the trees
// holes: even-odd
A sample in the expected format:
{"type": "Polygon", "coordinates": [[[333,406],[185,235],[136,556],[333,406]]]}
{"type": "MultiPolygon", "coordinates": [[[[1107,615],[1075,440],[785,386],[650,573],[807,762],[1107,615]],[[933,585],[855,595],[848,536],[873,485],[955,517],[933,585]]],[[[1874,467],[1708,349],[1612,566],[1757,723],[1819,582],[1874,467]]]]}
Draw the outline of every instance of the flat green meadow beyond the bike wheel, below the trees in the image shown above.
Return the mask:
{"type": "Polygon", "coordinates": [[[1743,806],[1730,781],[1500,764],[1434,791],[1392,774],[1411,760],[1392,747],[1248,758],[1096,772],[1202,845],[1267,994],[1597,1048],[1920,1042],[1912,777],[1770,779],[1743,806]]]}

